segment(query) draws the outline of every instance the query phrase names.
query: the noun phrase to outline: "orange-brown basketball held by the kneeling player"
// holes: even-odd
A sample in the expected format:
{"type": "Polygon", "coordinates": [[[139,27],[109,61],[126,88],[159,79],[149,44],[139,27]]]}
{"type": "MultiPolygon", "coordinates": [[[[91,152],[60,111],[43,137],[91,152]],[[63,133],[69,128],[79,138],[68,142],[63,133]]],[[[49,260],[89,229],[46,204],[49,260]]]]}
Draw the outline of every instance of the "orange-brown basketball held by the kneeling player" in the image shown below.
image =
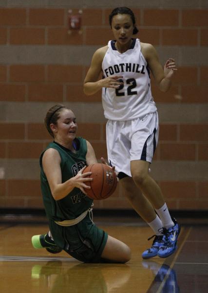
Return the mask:
{"type": "Polygon", "coordinates": [[[106,164],[96,163],[86,167],[83,173],[92,172],[93,181],[85,182],[91,189],[86,189],[92,199],[105,199],[112,195],[117,186],[117,177],[112,168],[106,164]]]}

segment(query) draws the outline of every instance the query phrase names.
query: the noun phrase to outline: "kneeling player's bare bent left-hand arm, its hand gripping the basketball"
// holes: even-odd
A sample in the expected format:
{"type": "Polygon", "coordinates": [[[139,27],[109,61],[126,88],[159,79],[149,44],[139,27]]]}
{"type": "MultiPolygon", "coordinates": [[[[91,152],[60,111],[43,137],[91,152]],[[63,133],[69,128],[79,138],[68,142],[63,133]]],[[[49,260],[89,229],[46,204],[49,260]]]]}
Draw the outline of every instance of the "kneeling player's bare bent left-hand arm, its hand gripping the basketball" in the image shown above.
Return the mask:
{"type": "Polygon", "coordinates": [[[44,152],[42,158],[42,165],[44,173],[47,177],[51,193],[55,200],[60,200],[67,196],[75,187],[80,188],[83,193],[86,194],[84,188],[89,188],[85,182],[91,181],[91,178],[85,178],[90,175],[91,172],[86,172],[82,174],[82,168],[75,177],[62,183],[61,168],[60,168],[61,158],[58,151],[54,148],[49,148],[44,152]]]}

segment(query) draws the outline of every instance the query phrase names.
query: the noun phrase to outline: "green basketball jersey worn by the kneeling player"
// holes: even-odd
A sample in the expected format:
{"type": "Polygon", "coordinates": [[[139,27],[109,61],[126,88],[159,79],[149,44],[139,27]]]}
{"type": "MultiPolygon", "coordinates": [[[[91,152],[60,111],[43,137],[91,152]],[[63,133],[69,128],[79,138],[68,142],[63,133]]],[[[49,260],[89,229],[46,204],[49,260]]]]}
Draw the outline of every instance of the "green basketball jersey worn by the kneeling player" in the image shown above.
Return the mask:
{"type": "MultiPolygon", "coordinates": [[[[76,176],[78,171],[86,165],[87,143],[86,140],[77,137],[74,141],[76,153],[73,153],[64,146],[56,142],[50,143],[46,149],[55,148],[61,157],[62,183],[76,176]]],[[[74,188],[67,196],[60,200],[55,200],[52,196],[48,180],[42,167],[42,156],[46,149],[40,155],[40,182],[43,196],[43,204],[46,215],[49,219],[55,221],[75,219],[85,210],[89,209],[93,200],[87,197],[79,188],[74,188]]]]}

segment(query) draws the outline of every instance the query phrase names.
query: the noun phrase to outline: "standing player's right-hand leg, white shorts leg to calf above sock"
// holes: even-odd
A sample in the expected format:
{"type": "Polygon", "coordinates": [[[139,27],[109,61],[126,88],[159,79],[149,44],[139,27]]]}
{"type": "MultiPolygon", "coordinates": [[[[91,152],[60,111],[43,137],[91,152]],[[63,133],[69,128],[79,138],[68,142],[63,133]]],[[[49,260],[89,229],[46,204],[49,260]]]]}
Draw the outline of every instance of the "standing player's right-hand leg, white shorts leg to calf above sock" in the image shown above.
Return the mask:
{"type": "Polygon", "coordinates": [[[146,115],[142,121],[139,119],[133,121],[130,149],[131,175],[135,185],[141,189],[154,209],[160,209],[165,204],[161,189],[149,173],[158,135],[157,113],[146,115]]]}

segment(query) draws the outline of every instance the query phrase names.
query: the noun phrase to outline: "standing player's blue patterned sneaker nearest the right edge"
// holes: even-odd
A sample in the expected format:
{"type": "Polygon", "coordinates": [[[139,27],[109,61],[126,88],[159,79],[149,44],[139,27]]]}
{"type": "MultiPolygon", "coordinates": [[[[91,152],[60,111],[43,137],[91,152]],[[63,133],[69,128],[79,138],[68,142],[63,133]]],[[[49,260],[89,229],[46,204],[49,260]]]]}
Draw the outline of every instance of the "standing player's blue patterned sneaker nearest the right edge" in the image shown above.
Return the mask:
{"type": "Polygon", "coordinates": [[[172,218],[172,220],[175,225],[169,229],[164,229],[164,244],[160,246],[157,253],[159,257],[168,257],[177,249],[177,240],[181,227],[174,218],[172,218]]]}

